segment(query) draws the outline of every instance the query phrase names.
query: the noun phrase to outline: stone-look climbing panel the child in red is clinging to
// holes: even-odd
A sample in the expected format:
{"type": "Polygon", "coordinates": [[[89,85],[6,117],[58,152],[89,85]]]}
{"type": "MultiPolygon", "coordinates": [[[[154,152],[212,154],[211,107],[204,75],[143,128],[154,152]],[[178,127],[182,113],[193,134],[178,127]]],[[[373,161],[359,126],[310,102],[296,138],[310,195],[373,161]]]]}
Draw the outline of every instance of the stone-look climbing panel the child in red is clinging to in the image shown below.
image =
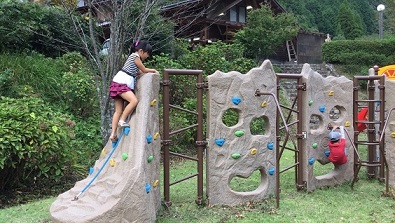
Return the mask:
{"type": "Polygon", "coordinates": [[[304,168],[307,190],[334,186],[353,178],[354,150],[353,140],[353,82],[344,76],[323,78],[321,74],[313,71],[310,65],[305,64],[302,69],[306,93],[304,101],[306,113],[304,114],[303,129],[307,130],[306,153],[304,154],[306,167],[304,168]],[[314,126],[309,122],[316,123],[314,126]],[[346,136],[347,163],[335,166],[329,162],[328,124],[345,126],[350,139],[346,136]],[[324,175],[316,175],[316,165],[331,165],[333,170],[324,175]]]}

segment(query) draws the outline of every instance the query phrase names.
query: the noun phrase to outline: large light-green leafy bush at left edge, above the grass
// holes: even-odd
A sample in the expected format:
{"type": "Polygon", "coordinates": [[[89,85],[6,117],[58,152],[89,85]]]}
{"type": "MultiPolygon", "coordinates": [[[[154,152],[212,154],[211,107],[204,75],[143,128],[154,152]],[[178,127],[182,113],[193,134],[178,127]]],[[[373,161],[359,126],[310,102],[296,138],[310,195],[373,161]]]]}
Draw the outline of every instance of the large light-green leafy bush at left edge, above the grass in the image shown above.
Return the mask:
{"type": "Polygon", "coordinates": [[[0,189],[41,177],[58,181],[73,164],[73,121],[38,98],[0,100],[0,189]]]}

